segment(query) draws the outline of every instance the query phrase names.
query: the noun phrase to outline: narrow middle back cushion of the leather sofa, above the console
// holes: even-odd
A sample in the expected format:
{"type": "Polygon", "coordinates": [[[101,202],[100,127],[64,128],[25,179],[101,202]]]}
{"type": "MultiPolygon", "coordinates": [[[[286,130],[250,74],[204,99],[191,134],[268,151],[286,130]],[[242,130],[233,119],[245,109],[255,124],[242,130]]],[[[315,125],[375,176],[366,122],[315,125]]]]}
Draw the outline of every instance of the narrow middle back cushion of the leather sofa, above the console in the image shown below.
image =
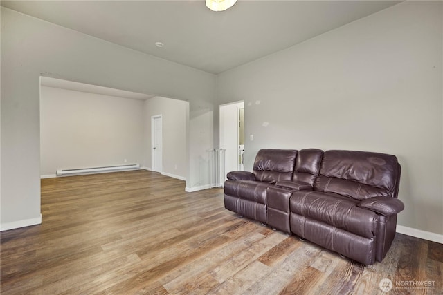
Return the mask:
{"type": "Polygon", "coordinates": [[[302,149],[298,151],[292,181],[307,182],[314,185],[320,173],[323,151],[320,149],[302,149]]]}

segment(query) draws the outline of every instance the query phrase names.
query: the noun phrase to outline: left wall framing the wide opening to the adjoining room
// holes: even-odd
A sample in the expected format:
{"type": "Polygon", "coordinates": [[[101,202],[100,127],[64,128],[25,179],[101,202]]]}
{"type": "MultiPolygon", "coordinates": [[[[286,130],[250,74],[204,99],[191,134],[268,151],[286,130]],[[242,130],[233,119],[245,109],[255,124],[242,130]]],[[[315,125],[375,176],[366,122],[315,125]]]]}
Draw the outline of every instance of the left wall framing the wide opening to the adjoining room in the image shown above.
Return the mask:
{"type": "MultiPolygon", "coordinates": [[[[40,216],[39,77],[183,99],[190,103],[189,157],[206,157],[213,129],[215,75],[181,66],[1,8],[1,218],[0,229],[32,225],[40,216]],[[207,120],[206,120],[207,121],[207,120]],[[206,124],[206,121],[204,122],[206,124]],[[212,116],[210,116],[212,126],[212,116]]],[[[189,160],[193,182],[199,164],[189,160]]],[[[206,180],[201,180],[204,183],[206,180]]],[[[209,182],[207,182],[209,183],[209,182]]]]}

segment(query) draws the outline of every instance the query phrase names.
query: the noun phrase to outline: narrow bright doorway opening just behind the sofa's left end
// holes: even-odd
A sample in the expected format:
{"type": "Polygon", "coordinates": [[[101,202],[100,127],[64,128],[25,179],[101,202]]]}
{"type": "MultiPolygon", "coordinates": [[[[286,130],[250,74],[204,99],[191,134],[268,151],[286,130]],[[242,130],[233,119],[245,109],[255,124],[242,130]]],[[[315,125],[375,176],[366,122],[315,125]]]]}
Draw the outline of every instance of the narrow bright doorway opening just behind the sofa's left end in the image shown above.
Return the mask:
{"type": "Polygon", "coordinates": [[[226,149],[226,172],[244,171],[244,102],[220,106],[220,148],[226,149]]]}

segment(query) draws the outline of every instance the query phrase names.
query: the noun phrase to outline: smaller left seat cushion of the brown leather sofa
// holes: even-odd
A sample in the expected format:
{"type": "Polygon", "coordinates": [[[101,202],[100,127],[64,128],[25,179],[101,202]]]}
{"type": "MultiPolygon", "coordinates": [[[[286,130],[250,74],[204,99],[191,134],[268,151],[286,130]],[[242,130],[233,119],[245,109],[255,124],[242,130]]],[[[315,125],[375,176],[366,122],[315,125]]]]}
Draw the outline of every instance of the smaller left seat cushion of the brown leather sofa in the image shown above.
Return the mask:
{"type": "Polygon", "coordinates": [[[274,185],[255,180],[226,180],[224,193],[243,200],[266,204],[266,189],[268,187],[274,187],[274,185]]]}

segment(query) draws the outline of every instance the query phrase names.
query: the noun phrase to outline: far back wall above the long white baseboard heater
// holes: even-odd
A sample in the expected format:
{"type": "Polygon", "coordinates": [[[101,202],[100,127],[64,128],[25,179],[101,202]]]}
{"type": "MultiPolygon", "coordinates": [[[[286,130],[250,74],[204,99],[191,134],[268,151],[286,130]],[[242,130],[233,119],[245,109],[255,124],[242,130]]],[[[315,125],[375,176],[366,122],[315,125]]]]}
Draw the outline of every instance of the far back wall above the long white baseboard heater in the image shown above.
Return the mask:
{"type": "Polygon", "coordinates": [[[143,104],[42,86],[41,175],[55,175],[57,169],[143,164],[143,104]]]}

